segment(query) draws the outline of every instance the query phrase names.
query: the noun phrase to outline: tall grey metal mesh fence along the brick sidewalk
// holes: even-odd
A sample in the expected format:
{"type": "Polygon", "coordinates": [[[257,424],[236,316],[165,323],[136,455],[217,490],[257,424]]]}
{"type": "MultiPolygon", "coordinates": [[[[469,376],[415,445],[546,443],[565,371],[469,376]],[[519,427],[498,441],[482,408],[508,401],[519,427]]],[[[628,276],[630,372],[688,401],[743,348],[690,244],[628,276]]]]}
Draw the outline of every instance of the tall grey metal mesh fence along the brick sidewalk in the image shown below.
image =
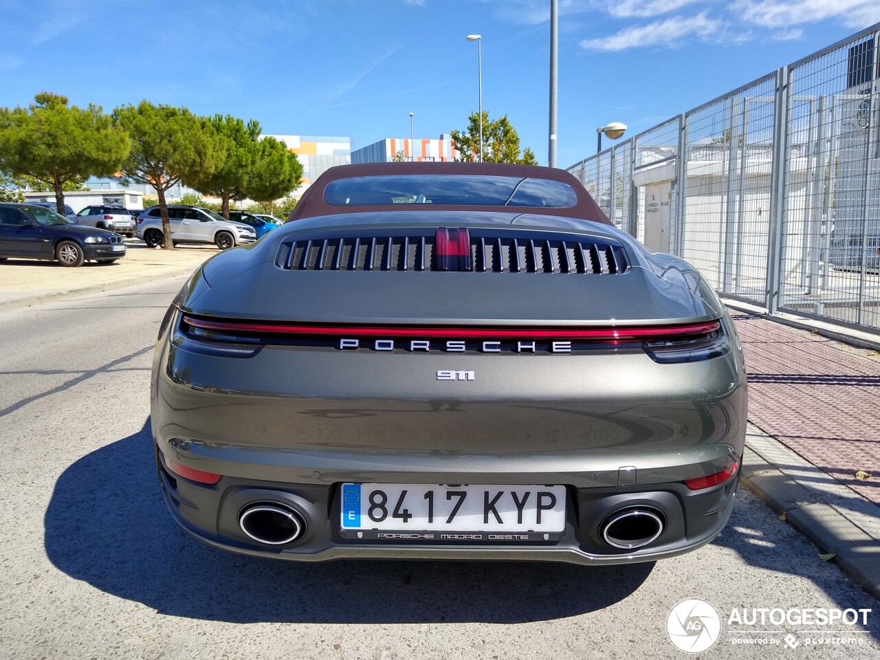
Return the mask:
{"type": "Polygon", "coordinates": [[[880,24],[568,168],[722,296],[880,329],[880,24]]]}

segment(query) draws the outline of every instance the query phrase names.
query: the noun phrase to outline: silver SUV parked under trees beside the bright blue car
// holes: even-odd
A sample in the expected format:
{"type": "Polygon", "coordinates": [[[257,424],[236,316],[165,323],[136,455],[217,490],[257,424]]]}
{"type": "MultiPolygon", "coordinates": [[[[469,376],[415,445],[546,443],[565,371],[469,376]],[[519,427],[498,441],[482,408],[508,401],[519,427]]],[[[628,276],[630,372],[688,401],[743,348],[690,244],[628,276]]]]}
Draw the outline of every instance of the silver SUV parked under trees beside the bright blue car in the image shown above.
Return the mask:
{"type": "MultiPolygon", "coordinates": [[[[221,250],[253,243],[257,234],[253,228],[225,220],[224,216],[196,206],[169,206],[171,239],[178,243],[213,243],[221,250]]],[[[145,209],[137,216],[137,238],[150,247],[162,245],[162,217],[158,206],[145,209]]]]}

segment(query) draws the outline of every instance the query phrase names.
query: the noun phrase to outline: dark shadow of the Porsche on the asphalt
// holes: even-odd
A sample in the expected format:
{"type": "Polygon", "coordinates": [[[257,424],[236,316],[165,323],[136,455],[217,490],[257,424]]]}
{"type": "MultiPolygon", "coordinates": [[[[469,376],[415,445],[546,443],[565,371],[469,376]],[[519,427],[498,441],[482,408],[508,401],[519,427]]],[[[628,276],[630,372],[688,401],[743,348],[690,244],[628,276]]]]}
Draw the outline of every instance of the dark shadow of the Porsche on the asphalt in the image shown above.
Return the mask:
{"type": "Polygon", "coordinates": [[[236,623],[519,623],[592,612],[627,598],[653,563],[332,561],[224,553],[180,531],[165,509],[149,420],[80,458],[55,483],[48,558],[67,575],[158,612],[236,623]]]}

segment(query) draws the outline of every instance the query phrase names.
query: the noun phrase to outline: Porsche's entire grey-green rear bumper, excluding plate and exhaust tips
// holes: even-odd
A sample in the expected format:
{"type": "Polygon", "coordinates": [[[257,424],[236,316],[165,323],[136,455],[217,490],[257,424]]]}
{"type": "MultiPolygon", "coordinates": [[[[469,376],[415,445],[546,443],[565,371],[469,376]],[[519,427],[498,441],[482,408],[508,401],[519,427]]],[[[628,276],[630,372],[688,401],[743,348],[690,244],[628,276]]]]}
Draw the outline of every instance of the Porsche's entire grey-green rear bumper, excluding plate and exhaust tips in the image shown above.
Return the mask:
{"type": "MultiPolygon", "coordinates": [[[[299,561],[354,557],[655,561],[715,538],[737,478],[690,490],[744,449],[741,356],[658,364],[641,350],[583,356],[466,356],[479,389],[433,378],[456,356],[345,353],[268,346],[246,357],[169,341],[154,356],[151,423],[165,502],[195,538],[232,552],[299,561]],[[223,475],[206,486],[174,462],[223,475]],[[343,538],[341,483],[564,486],[558,539],[526,543],[343,538]],[[243,511],[275,504],[306,532],[271,546],[239,528],[243,511]],[[663,532],[635,549],[606,543],[622,510],[655,512],[663,532]],[[427,545],[426,545],[427,544],[427,545]],[[435,544],[435,545],[431,545],[435,544]]],[[[454,361],[454,362],[453,362],[454,361]]]]}

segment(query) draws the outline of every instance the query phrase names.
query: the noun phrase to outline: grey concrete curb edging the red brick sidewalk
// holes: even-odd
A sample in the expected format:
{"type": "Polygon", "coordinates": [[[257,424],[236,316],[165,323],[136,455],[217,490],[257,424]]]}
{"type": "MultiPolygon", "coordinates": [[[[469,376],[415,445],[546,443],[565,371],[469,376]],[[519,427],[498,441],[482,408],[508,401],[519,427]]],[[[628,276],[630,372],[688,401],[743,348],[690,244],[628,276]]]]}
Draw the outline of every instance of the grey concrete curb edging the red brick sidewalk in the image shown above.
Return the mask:
{"type": "Polygon", "coordinates": [[[749,424],[740,479],[880,599],[880,507],[749,424]]]}

